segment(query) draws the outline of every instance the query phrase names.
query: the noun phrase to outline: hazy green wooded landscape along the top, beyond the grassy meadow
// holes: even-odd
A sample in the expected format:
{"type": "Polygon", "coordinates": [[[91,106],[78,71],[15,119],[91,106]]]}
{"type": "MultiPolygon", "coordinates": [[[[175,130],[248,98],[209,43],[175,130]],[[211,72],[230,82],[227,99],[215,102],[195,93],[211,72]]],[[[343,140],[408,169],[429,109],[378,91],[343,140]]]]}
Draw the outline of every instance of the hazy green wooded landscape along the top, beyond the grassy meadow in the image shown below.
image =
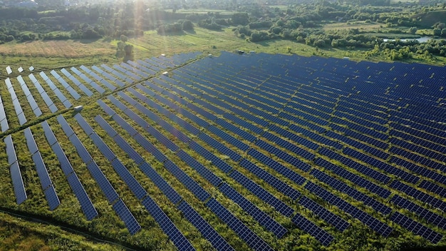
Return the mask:
{"type": "MultiPolygon", "coordinates": [[[[41,9],[0,9],[0,43],[135,38],[145,31],[181,34],[194,26],[230,28],[258,43],[289,40],[316,48],[365,51],[390,60],[446,56],[446,4],[390,1],[304,1],[287,6],[247,1],[98,2],[78,6],[46,3],[41,9]],[[194,11],[197,9],[197,11],[194,11]],[[206,12],[199,11],[207,9],[206,12]],[[334,28],[333,28],[334,27],[334,28]],[[420,43],[416,39],[429,36],[420,43]]],[[[119,50],[119,48],[118,48],[119,50]]],[[[119,56],[120,53],[117,53],[119,56]]]]}

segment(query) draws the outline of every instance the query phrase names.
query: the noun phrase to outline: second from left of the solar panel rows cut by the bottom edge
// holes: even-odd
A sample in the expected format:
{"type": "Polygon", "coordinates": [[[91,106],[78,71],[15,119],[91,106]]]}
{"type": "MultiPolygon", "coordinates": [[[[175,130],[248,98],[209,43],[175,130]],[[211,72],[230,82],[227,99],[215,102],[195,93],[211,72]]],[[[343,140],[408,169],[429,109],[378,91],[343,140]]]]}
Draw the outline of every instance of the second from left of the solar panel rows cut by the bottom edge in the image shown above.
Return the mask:
{"type": "Polygon", "coordinates": [[[231,245],[229,245],[228,242],[224,240],[217,231],[214,230],[214,227],[209,225],[209,223],[207,223],[207,221],[204,220],[197,213],[197,211],[195,211],[189,204],[187,204],[187,202],[182,201],[182,203],[178,205],[178,209],[182,211],[183,215],[185,215],[186,219],[189,220],[192,225],[197,227],[197,230],[199,230],[203,237],[211,242],[212,246],[216,250],[234,250],[234,248],[231,247],[231,245]]]}

